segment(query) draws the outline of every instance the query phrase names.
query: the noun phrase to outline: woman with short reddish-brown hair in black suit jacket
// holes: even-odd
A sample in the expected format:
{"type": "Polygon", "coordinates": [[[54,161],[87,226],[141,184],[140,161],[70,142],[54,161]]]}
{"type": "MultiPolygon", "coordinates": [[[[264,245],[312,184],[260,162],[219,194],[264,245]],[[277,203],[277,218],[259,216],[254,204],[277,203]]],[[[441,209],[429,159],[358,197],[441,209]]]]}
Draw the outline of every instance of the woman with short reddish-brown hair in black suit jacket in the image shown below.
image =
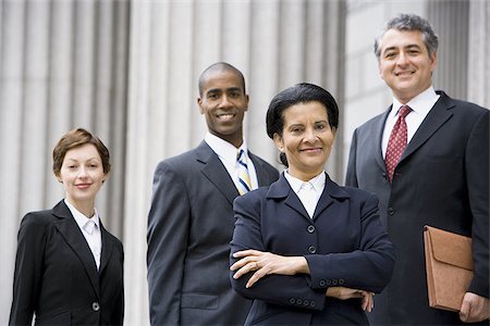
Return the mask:
{"type": "Polygon", "coordinates": [[[109,151],[85,129],[54,147],[65,199],[26,214],[19,230],[9,325],[122,325],[123,246],[94,203],[110,172],[109,151]]]}

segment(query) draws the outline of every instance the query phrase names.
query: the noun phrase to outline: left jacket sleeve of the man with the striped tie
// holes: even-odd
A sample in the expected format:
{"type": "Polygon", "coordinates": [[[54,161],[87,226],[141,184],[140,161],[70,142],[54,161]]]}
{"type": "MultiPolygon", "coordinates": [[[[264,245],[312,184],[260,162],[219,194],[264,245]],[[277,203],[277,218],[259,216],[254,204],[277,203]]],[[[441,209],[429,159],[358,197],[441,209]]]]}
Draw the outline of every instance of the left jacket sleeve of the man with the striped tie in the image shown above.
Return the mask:
{"type": "Polygon", "coordinates": [[[175,170],[160,162],[148,215],[148,291],[151,325],[179,325],[188,239],[189,203],[175,170]]]}

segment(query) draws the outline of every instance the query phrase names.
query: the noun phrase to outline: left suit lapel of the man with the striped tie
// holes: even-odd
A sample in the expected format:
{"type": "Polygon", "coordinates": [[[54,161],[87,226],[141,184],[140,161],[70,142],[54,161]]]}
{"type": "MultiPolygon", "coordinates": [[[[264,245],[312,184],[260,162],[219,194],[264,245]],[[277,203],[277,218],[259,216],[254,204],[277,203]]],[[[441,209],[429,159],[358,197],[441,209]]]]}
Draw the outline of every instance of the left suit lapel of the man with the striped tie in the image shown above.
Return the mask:
{"type": "Polygon", "coordinates": [[[228,199],[230,204],[238,196],[235,184],[228,174],[220,158],[211,150],[211,148],[203,141],[196,148],[197,161],[204,163],[203,174],[217,187],[217,189],[228,199]]]}

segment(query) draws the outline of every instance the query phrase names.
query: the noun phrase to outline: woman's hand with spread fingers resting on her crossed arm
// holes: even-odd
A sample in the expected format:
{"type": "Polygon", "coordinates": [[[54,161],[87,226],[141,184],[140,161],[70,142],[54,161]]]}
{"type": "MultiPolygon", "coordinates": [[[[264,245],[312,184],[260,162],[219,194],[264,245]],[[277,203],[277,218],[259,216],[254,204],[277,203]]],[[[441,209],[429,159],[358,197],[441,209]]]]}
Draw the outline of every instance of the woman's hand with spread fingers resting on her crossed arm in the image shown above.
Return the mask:
{"type": "Polygon", "coordinates": [[[304,256],[283,256],[253,249],[237,251],[233,253],[233,256],[241,259],[230,267],[230,271],[236,271],[233,278],[237,279],[244,274],[255,271],[254,275],[248,279],[246,288],[252,287],[257,280],[268,274],[309,274],[308,263],[304,256]]]}

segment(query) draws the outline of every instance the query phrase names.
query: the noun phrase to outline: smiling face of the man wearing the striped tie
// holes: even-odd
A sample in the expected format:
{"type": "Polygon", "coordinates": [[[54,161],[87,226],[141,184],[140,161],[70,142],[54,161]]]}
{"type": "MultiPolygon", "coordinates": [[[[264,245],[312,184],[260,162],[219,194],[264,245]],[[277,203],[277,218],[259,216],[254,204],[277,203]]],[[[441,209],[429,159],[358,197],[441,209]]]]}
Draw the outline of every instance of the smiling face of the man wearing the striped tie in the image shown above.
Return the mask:
{"type": "Polygon", "coordinates": [[[199,111],[206,116],[208,130],[238,148],[242,122],[248,108],[243,79],[232,70],[211,70],[203,82],[199,111]]]}

